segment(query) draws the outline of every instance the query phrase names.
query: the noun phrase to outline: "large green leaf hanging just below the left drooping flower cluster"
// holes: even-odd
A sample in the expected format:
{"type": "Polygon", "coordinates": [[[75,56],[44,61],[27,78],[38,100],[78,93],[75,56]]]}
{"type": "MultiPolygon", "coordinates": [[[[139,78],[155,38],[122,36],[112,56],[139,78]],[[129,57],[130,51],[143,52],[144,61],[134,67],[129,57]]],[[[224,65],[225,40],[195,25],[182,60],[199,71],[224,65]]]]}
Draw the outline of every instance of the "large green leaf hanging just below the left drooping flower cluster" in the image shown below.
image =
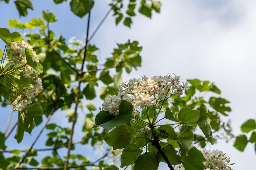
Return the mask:
{"type": "Polygon", "coordinates": [[[19,112],[17,130],[14,137],[18,143],[22,141],[24,132],[28,132],[30,134],[34,129],[35,122],[33,118],[42,116],[42,114],[42,107],[37,102],[25,107],[21,112],[19,112]]]}

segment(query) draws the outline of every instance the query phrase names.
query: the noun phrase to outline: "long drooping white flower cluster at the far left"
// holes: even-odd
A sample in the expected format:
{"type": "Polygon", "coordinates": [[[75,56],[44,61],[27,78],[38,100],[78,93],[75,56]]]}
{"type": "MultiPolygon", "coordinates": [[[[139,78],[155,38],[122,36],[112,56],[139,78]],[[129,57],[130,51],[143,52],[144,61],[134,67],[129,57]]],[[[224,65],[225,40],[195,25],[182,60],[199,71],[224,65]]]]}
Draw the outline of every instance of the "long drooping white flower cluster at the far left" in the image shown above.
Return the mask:
{"type": "Polygon", "coordinates": [[[22,111],[24,107],[31,103],[31,98],[34,97],[34,94],[42,89],[42,80],[38,77],[39,72],[27,65],[25,49],[28,48],[32,51],[33,56],[32,60],[35,62],[39,62],[35,51],[32,46],[27,42],[12,42],[7,44],[7,49],[9,49],[8,58],[11,60],[11,64],[17,66],[19,64],[20,70],[26,78],[32,78],[33,83],[28,88],[24,88],[18,98],[13,102],[8,104],[13,105],[13,110],[22,111]]]}

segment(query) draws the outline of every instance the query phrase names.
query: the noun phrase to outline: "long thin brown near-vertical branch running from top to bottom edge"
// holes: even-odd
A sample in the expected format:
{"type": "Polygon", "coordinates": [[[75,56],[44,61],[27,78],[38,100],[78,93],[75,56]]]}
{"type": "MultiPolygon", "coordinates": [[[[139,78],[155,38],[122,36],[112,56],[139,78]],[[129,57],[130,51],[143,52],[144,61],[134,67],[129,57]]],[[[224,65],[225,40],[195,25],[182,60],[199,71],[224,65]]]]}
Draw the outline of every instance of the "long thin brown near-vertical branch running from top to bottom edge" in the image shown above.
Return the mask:
{"type": "MultiPolygon", "coordinates": [[[[89,2],[90,2],[90,6],[89,6],[89,15],[88,15],[88,22],[87,22],[86,43],[85,43],[83,62],[82,62],[82,67],[81,67],[80,73],[83,72],[84,61],[86,59],[86,52],[87,52],[87,44],[88,44],[88,35],[89,35],[89,28],[90,28],[90,16],[91,16],[91,4],[92,4],[92,1],[89,0],[89,2]]],[[[68,160],[69,160],[70,150],[71,150],[71,146],[72,146],[72,138],[73,138],[73,133],[74,133],[74,127],[75,127],[75,124],[76,124],[77,108],[78,108],[78,104],[79,104],[79,96],[80,96],[80,90],[81,90],[80,89],[81,82],[82,82],[82,74],[79,74],[76,106],[75,106],[75,111],[74,111],[73,120],[72,120],[72,128],[71,128],[70,138],[69,138],[69,141],[68,141],[68,153],[67,153],[67,157],[66,157],[66,162],[65,162],[64,170],[68,169],[68,160]]]]}

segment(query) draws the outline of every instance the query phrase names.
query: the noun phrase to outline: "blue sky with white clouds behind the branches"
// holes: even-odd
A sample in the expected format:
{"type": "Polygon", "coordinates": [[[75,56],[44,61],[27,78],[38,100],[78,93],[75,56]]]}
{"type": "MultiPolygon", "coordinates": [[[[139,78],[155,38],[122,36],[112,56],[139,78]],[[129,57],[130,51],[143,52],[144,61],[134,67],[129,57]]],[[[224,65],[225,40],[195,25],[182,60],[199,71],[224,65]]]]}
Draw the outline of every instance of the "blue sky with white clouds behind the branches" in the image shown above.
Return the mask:
{"type": "MultiPolygon", "coordinates": [[[[91,13],[90,32],[109,10],[109,1],[98,0],[91,13]]],[[[123,80],[146,75],[165,75],[175,73],[186,79],[200,79],[214,82],[222,91],[221,97],[230,101],[232,109],[229,118],[232,120],[233,133],[241,133],[240,125],[249,118],[255,119],[255,54],[256,48],[256,2],[255,1],[208,1],[208,0],[163,0],[160,14],[153,12],[152,18],[146,18],[140,14],[133,18],[131,29],[119,24],[115,26],[114,18],[109,16],[97,34],[91,40],[100,50],[97,56],[100,61],[110,57],[116,43],[124,43],[128,39],[137,40],[143,50],[142,67],[131,74],[123,74],[123,80]]],[[[42,10],[54,12],[58,22],[52,23],[52,29],[56,36],[62,34],[67,40],[76,36],[84,40],[86,34],[87,17],[80,19],[71,11],[68,3],[55,5],[52,0],[33,1],[34,10],[28,11],[27,17],[19,19],[18,12],[11,1],[10,4],[0,3],[0,27],[6,28],[8,19],[18,19],[20,22],[28,22],[30,18],[41,17],[42,10]]],[[[10,29],[15,31],[15,29],[10,29]]],[[[29,30],[28,30],[29,32],[29,30]]],[[[3,44],[0,43],[0,48],[3,44]]],[[[208,96],[213,94],[207,94],[208,96]]],[[[218,96],[218,95],[216,95],[218,96]]],[[[84,101],[86,104],[86,101],[84,101]]],[[[94,99],[95,106],[100,107],[102,100],[94,99]]],[[[10,107],[0,108],[3,123],[0,129],[5,128],[5,120],[8,118],[10,107]]],[[[63,126],[71,127],[66,123],[67,111],[58,111],[52,116],[50,122],[58,121],[63,126]]],[[[17,113],[14,113],[12,124],[17,113]]],[[[74,141],[81,139],[81,131],[84,114],[80,111],[76,124],[74,141]]],[[[224,120],[227,118],[223,117],[224,120]]],[[[44,119],[45,120],[45,119],[44,119]]],[[[38,134],[42,124],[33,130],[31,136],[24,135],[20,144],[14,140],[13,133],[8,139],[8,148],[24,149],[31,145],[31,141],[38,134]]],[[[45,130],[35,148],[42,148],[45,144],[45,130]]],[[[226,143],[218,140],[211,149],[226,152],[235,165],[233,169],[253,169],[256,156],[254,146],[247,144],[244,152],[235,149],[232,142],[226,143]]],[[[209,148],[209,146],[207,145],[209,148]]],[[[97,159],[91,147],[78,145],[76,151],[88,155],[92,160],[97,159]]],[[[45,155],[40,153],[37,159],[45,155]]],[[[66,149],[61,149],[60,154],[65,155],[66,149]]],[[[159,169],[167,169],[161,163],[159,169]]]]}

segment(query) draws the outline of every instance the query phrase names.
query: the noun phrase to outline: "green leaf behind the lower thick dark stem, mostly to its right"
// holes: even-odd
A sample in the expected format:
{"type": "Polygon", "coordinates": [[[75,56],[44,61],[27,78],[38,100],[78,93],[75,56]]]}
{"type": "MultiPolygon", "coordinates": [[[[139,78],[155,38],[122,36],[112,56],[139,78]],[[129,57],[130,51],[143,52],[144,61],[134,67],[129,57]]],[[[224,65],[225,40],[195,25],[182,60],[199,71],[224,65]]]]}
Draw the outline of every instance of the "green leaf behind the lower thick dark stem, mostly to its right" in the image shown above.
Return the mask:
{"type": "MultiPolygon", "coordinates": [[[[180,155],[177,155],[177,151],[172,145],[165,145],[162,150],[164,151],[165,155],[167,156],[168,160],[172,165],[178,165],[180,163],[183,163],[182,157],[180,155]]],[[[157,157],[160,161],[165,162],[161,153],[157,152],[157,157]]]]}

